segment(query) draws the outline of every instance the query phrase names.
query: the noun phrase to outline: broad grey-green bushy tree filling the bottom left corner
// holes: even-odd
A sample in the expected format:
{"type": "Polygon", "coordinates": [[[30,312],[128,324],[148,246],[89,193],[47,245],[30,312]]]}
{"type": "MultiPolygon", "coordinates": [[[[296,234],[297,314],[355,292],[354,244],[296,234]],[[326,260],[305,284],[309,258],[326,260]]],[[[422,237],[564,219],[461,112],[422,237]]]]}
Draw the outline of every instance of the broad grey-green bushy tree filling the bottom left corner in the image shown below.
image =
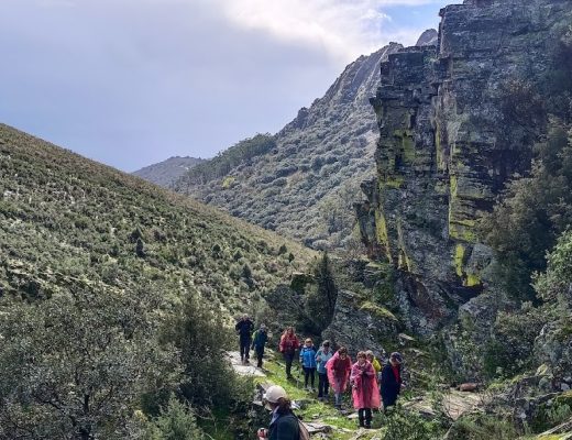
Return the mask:
{"type": "Polygon", "coordinates": [[[0,304],[0,439],[128,438],[142,393],[167,381],[148,292],[73,286],[0,304]]]}

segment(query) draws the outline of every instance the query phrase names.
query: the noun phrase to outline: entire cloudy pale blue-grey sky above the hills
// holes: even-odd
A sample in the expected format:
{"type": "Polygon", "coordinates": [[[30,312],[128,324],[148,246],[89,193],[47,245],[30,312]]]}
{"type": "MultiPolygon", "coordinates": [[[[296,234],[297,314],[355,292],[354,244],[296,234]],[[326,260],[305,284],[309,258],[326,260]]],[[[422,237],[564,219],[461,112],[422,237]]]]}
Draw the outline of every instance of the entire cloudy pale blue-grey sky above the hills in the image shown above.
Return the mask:
{"type": "Polygon", "coordinates": [[[0,0],[0,122],[133,172],[275,133],[449,0],[0,0]]]}

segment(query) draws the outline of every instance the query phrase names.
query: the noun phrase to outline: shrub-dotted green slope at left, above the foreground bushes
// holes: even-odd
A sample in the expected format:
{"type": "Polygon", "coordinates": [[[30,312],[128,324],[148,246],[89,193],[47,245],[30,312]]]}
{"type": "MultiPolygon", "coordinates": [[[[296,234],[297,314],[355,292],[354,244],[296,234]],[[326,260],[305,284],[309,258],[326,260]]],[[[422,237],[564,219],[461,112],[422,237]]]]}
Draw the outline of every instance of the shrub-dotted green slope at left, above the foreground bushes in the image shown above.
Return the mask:
{"type": "Polygon", "coordinates": [[[0,294],[50,296],[84,278],[174,298],[198,292],[237,312],[311,258],[274,233],[0,124],[0,294]]]}

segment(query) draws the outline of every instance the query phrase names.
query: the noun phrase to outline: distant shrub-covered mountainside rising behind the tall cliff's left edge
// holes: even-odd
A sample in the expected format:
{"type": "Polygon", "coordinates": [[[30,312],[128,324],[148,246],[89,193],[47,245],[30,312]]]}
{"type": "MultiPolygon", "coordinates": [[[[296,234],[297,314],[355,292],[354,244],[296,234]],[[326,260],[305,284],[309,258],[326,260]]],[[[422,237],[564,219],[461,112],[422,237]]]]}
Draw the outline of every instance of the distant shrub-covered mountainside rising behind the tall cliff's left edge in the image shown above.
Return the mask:
{"type": "Polygon", "coordinates": [[[175,189],[316,249],[351,240],[352,204],[375,167],[376,125],[369,99],[378,86],[380,63],[400,47],[392,43],[350,64],[261,154],[232,162],[223,173],[207,173],[208,178],[190,169],[175,189]]]}

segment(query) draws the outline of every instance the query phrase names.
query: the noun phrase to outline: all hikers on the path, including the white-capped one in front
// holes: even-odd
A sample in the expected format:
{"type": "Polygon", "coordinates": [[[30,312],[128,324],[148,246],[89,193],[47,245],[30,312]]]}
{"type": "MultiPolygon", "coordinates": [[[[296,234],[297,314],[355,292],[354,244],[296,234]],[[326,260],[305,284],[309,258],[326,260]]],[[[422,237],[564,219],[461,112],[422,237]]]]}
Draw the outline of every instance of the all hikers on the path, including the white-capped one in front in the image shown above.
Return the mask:
{"type": "MultiPolygon", "coordinates": [[[[237,323],[237,331],[240,334],[241,359],[243,363],[248,363],[249,350],[252,348],[256,353],[257,366],[262,367],[264,349],[268,339],[266,327],[261,324],[258,330],[254,332],[253,338],[250,337],[252,329],[254,329],[254,324],[246,315],[237,323]],[[246,338],[246,331],[243,329],[250,329],[249,338],[246,338]]],[[[304,345],[300,345],[300,341],[292,327],[284,330],[280,337],[279,351],[286,363],[288,380],[294,378],[292,366],[296,359],[296,352],[299,352],[299,362],[304,370],[304,386],[308,392],[316,392],[316,373],[318,373],[319,400],[329,400],[331,388],[336,408],[342,409],[342,397],[348,387],[351,387],[353,407],[358,410],[360,427],[366,429],[372,426],[372,411],[382,408],[382,403],[384,410],[394,406],[404,386],[402,378],[403,356],[398,352],[392,353],[383,367],[371,350],[360,351],[356,355],[356,362],[352,362],[345,346],[340,346],[334,351],[329,341],[323,341],[321,346],[316,349],[312,340],[307,338],[304,340],[304,345]]],[[[274,440],[276,437],[273,437],[273,432],[274,429],[277,429],[277,426],[287,425],[292,428],[292,410],[286,392],[277,385],[268,388],[266,402],[273,410],[273,419],[265,435],[270,440],[274,440]],[[276,398],[276,400],[272,402],[273,398],[276,398]]],[[[298,431],[296,432],[299,435],[298,431]]],[[[263,435],[258,432],[258,437],[266,438],[264,432],[263,435]]],[[[292,438],[298,439],[298,437],[292,438]]],[[[289,437],[280,436],[280,439],[287,440],[289,437]]]]}

